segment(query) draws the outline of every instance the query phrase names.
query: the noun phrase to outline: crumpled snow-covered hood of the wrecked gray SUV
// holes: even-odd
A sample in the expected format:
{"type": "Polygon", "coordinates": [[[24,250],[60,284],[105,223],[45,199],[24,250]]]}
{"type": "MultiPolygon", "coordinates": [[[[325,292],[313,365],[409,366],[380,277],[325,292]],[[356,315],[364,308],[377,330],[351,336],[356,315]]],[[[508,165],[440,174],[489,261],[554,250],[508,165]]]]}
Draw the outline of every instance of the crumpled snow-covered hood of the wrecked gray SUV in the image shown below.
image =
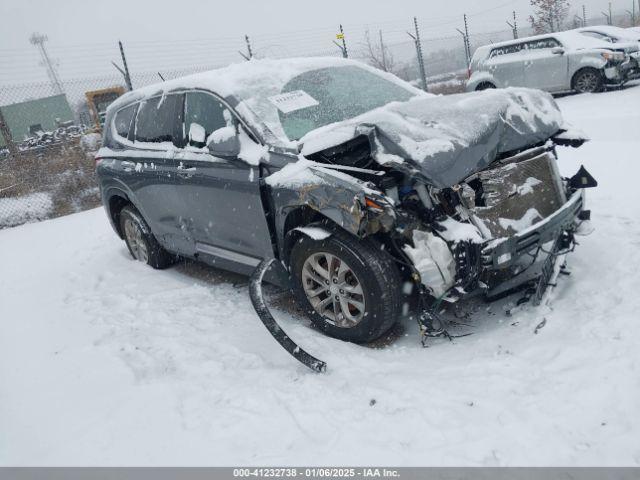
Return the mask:
{"type": "Polygon", "coordinates": [[[508,88],[393,102],[313,130],[300,143],[307,156],[366,135],[379,164],[421,173],[444,188],[483,169],[500,153],[546,141],[562,125],[551,95],[508,88]]]}

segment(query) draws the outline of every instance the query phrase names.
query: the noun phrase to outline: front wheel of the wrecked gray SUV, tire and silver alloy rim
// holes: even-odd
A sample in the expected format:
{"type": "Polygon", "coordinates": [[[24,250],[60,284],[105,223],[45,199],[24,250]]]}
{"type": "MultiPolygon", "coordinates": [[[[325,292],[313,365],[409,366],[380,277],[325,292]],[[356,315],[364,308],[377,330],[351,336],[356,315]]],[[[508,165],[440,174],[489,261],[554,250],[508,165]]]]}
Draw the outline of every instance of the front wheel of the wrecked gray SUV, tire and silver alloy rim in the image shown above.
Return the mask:
{"type": "Polygon", "coordinates": [[[323,240],[305,235],[291,250],[290,267],[298,303],[332,337],[370,342],[400,316],[400,274],[371,240],[342,231],[323,240]]]}

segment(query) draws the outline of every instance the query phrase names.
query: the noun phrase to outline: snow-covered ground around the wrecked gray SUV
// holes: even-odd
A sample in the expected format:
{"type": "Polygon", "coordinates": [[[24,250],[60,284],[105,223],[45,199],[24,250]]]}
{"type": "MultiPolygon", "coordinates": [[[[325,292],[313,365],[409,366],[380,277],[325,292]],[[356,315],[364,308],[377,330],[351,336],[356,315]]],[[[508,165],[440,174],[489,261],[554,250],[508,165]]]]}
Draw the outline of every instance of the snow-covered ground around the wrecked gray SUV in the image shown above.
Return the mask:
{"type": "Polygon", "coordinates": [[[473,335],[374,348],[277,295],[324,375],[245,279],[133,262],[101,209],[0,231],[0,465],[640,465],[640,86],[559,103],[593,139],[561,171],[600,186],[551,307],[466,302],[473,335]]]}

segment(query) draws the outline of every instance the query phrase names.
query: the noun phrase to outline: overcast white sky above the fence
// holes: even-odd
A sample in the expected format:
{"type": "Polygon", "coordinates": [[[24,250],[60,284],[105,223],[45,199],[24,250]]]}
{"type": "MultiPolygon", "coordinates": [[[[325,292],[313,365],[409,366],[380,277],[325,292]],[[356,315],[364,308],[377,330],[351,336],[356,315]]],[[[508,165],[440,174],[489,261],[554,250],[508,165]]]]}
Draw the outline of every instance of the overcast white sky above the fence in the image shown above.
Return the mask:
{"type": "MultiPolygon", "coordinates": [[[[632,1],[614,0],[614,9],[631,8],[632,1]]],[[[574,9],[583,3],[592,15],[608,5],[607,0],[581,0],[574,9]]],[[[331,42],[339,23],[353,43],[367,25],[382,29],[387,41],[399,42],[407,40],[405,30],[414,15],[429,38],[457,35],[465,12],[472,32],[506,29],[512,10],[525,24],[529,1],[0,0],[0,83],[46,78],[28,41],[34,31],[48,35],[63,78],[74,78],[86,75],[87,65],[101,74],[113,72],[110,61],[118,59],[118,39],[139,69],[178,68],[180,60],[196,58],[205,64],[237,61],[245,33],[263,55],[298,54],[300,49],[316,53],[335,48],[331,42]],[[203,45],[206,49],[198,50],[203,45]],[[87,64],[88,58],[93,63],[87,64]]]]}

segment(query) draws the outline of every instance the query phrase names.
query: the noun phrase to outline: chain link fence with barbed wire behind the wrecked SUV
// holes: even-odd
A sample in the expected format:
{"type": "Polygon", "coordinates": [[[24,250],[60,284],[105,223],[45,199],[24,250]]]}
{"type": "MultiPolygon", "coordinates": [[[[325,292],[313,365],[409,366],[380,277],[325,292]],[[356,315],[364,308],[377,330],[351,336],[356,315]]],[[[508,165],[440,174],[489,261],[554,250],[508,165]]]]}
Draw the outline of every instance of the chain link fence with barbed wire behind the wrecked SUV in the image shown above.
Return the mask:
{"type": "MultiPolygon", "coordinates": [[[[417,56],[421,50],[427,89],[450,94],[464,91],[467,48],[473,53],[481,45],[511,39],[516,33],[520,37],[532,33],[522,27],[514,32],[505,25],[511,17],[488,17],[491,10],[466,18],[470,33],[464,29],[463,19],[456,16],[345,25],[344,42],[336,35],[341,32],[341,25],[340,29],[185,40],[179,44],[137,42],[125,44],[124,50],[133,88],[211,70],[248,56],[345,55],[421,87],[422,69],[417,56]],[[473,27],[480,24],[500,28],[474,32],[473,27]],[[442,35],[445,31],[452,34],[442,35]],[[317,48],[319,45],[322,48],[317,48]],[[172,68],[158,70],[157,65],[172,68]]],[[[52,56],[64,54],[67,58],[60,66],[59,85],[42,79],[45,69],[37,65],[31,50],[0,50],[0,64],[7,63],[6,68],[0,68],[0,229],[99,205],[93,158],[100,134],[87,92],[126,89],[123,75],[112,65],[113,60],[120,59],[120,52],[117,46],[105,44],[78,45],[73,49],[53,46],[51,51],[52,56]],[[34,78],[41,80],[29,81],[34,78]]]]}

